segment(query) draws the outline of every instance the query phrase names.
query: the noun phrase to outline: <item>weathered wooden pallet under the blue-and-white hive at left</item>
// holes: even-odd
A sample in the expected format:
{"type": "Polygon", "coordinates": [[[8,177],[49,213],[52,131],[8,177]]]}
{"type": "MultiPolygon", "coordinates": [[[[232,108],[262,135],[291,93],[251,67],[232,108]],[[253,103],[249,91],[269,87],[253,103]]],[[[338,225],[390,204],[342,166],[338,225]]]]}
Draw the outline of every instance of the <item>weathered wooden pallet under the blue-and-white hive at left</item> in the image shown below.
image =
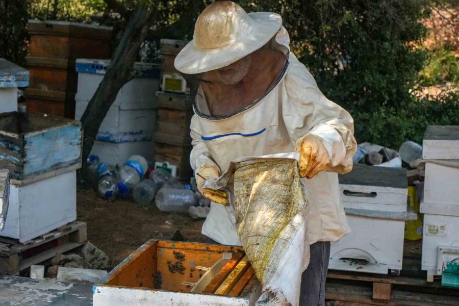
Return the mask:
{"type": "Polygon", "coordinates": [[[74,221],[25,243],[0,237],[0,273],[17,274],[87,241],[86,222],[74,221]]]}

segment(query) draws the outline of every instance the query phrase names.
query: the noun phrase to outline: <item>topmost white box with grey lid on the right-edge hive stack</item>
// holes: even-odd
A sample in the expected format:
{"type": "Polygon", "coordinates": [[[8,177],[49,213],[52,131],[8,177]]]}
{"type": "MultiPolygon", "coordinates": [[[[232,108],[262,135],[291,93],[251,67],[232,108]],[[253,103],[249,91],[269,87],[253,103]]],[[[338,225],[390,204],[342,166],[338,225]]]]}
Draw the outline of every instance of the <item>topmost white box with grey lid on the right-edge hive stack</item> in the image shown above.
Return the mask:
{"type": "Polygon", "coordinates": [[[429,125],[422,141],[425,160],[459,160],[459,125],[429,125]]]}

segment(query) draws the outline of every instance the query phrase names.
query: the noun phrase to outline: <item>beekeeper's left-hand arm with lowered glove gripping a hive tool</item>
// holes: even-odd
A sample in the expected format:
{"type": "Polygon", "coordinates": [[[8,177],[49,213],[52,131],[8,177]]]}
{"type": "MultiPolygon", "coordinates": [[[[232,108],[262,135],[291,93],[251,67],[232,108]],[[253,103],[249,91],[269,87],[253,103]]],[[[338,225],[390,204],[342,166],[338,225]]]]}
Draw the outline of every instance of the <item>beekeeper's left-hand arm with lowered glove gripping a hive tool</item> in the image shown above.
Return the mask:
{"type": "Polygon", "coordinates": [[[197,188],[202,196],[209,200],[228,205],[227,195],[224,191],[201,188],[202,183],[210,177],[220,176],[220,167],[212,160],[209,149],[201,138],[202,134],[195,116],[193,115],[191,118],[190,125],[191,144],[193,145],[190,154],[190,164],[195,173],[197,188]]]}

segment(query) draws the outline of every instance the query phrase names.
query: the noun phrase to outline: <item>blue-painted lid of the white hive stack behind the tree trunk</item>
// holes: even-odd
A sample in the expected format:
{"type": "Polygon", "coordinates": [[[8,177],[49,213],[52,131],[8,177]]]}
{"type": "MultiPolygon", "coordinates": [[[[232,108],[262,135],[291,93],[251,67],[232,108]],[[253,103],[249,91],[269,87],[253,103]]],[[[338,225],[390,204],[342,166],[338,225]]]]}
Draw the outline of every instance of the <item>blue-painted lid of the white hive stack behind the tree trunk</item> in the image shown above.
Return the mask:
{"type": "MultiPolygon", "coordinates": [[[[110,60],[77,59],[76,70],[78,73],[105,74],[109,65],[110,60]]],[[[136,78],[159,79],[161,69],[158,64],[136,62],[133,74],[136,78]]]]}

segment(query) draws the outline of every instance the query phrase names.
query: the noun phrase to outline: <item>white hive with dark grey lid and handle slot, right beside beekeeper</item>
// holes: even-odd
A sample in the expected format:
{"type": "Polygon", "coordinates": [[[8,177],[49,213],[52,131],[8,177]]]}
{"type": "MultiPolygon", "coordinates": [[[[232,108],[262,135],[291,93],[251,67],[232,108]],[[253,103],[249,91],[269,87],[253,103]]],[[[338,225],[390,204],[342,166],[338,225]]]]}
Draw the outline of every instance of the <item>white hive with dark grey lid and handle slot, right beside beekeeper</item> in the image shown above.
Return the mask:
{"type": "Polygon", "coordinates": [[[329,269],[398,274],[407,212],[406,170],[356,164],[339,175],[351,233],[331,244],[329,269]]]}

